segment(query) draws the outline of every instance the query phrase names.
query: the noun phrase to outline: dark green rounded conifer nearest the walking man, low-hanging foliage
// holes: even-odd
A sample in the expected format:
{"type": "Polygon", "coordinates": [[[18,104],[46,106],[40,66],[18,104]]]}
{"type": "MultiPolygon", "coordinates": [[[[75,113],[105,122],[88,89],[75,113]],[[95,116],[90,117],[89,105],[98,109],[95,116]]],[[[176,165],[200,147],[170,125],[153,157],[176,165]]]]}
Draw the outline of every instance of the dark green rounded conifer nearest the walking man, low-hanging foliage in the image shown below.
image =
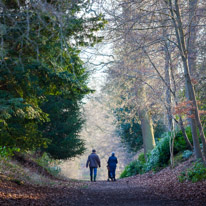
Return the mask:
{"type": "Polygon", "coordinates": [[[80,105],[64,95],[47,98],[42,109],[49,114],[50,121],[40,125],[40,130],[51,144],[41,150],[54,159],[68,159],[82,154],[85,144],[79,137],[84,123],[80,105]]]}

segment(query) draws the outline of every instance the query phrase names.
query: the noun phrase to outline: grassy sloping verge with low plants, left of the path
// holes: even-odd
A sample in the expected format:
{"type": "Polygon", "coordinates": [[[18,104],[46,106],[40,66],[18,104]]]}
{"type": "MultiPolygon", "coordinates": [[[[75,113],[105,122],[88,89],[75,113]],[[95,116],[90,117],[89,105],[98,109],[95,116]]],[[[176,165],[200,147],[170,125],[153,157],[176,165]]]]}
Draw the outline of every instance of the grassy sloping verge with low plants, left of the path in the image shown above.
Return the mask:
{"type": "MultiPolygon", "coordinates": [[[[25,159],[28,160],[27,155],[25,159]]],[[[6,179],[16,184],[32,184],[39,186],[52,186],[59,184],[57,178],[60,169],[54,162],[45,160],[45,155],[42,158],[32,158],[28,162],[22,163],[15,160],[13,157],[0,157],[0,178],[6,179]],[[48,175],[49,174],[49,175],[48,175]]]]}

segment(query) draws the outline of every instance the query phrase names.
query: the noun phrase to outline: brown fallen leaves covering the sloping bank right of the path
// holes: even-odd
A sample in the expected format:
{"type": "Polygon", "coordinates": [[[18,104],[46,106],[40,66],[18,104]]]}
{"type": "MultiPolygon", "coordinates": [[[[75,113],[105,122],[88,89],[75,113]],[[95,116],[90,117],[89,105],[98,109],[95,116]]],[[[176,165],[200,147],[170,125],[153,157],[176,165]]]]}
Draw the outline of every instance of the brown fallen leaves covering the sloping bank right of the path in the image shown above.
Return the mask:
{"type": "MultiPolygon", "coordinates": [[[[178,176],[180,172],[185,170],[191,165],[193,160],[188,160],[174,169],[165,168],[162,171],[152,174],[147,173],[144,175],[137,175],[135,178],[132,177],[132,184],[149,186],[152,192],[155,194],[167,197],[169,199],[178,199],[182,201],[202,201],[206,200],[206,181],[192,183],[185,182],[180,183],[178,176]],[[152,174],[152,178],[148,178],[152,174]]],[[[189,203],[187,204],[189,205],[189,203]]]]}

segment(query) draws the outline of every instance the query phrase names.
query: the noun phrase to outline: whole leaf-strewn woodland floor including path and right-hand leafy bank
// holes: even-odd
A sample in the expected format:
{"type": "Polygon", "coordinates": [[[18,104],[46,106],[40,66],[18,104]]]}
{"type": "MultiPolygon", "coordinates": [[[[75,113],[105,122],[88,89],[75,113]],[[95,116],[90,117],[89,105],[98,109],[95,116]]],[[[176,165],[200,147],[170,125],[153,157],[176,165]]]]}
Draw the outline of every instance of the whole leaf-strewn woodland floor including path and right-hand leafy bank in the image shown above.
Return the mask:
{"type": "Polygon", "coordinates": [[[187,161],[175,169],[165,168],[116,182],[55,180],[53,186],[18,184],[0,175],[0,205],[48,206],[163,206],[206,205],[206,181],[179,183],[179,172],[187,161]]]}

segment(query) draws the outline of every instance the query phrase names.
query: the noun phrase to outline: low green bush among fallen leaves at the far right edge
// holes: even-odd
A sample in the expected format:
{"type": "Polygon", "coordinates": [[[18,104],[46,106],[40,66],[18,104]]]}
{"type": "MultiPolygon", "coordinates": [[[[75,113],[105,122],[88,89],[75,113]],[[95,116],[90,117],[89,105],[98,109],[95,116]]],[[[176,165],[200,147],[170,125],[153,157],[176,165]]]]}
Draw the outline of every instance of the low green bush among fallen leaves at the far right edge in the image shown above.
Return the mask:
{"type": "Polygon", "coordinates": [[[206,180],[206,167],[202,162],[195,162],[191,168],[182,172],[178,179],[180,182],[184,182],[186,180],[191,182],[206,180]]]}

